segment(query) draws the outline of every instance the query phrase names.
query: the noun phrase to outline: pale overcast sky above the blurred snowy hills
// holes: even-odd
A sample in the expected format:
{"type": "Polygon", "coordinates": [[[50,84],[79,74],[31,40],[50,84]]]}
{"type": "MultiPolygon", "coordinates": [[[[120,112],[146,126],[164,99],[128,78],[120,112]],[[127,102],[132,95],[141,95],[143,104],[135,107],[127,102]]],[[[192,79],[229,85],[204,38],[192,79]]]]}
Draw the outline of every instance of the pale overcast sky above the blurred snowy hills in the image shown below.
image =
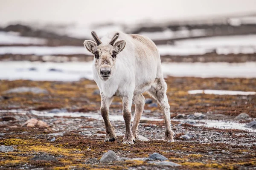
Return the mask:
{"type": "Polygon", "coordinates": [[[129,23],[256,13],[256,0],[0,0],[0,24],[129,23]]]}

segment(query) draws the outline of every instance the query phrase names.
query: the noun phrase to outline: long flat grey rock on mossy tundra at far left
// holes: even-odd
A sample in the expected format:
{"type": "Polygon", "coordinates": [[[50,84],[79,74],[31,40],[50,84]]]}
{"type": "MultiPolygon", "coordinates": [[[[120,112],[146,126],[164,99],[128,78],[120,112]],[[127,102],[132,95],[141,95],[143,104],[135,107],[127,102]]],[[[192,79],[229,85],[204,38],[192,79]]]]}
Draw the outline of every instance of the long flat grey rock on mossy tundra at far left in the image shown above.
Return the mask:
{"type": "Polygon", "coordinates": [[[48,94],[48,91],[38,87],[19,87],[19,88],[12,88],[8,91],[4,91],[4,94],[11,94],[11,93],[26,93],[31,92],[34,94],[48,94]]]}

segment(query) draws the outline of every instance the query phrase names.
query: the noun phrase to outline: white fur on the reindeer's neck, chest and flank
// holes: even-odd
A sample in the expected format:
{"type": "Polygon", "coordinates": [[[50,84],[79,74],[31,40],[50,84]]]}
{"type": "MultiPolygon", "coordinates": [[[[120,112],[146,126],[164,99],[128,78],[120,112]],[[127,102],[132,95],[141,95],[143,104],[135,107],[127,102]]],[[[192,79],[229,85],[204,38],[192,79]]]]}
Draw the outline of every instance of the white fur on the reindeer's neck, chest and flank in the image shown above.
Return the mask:
{"type": "MultiPolygon", "coordinates": [[[[93,63],[93,77],[100,92],[107,97],[112,97],[117,91],[119,96],[141,94],[151,87],[147,85],[141,88],[145,82],[154,82],[157,77],[162,77],[160,55],[155,47],[155,56],[148,53],[149,56],[137,56],[133,38],[124,33],[119,33],[119,40],[125,40],[126,45],[116,57],[116,67],[113,75],[106,81],[102,80],[97,74],[95,63],[93,63]],[[150,56],[151,55],[151,56],[150,56]],[[158,72],[158,75],[157,75],[158,72]]],[[[102,37],[102,43],[108,43],[114,34],[108,34],[102,37]]],[[[147,48],[146,45],[137,48],[147,48]]],[[[148,49],[151,51],[152,49],[148,49]]],[[[94,58],[94,62],[95,62],[94,58]]]]}

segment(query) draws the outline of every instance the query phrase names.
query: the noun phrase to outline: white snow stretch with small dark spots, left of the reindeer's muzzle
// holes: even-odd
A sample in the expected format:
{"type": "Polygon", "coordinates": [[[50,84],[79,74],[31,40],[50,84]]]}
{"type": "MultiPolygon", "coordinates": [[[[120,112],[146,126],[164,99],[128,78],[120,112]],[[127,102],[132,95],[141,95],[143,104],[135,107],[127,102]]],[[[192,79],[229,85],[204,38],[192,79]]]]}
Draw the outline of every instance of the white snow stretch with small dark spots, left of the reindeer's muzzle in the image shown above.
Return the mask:
{"type": "Polygon", "coordinates": [[[35,81],[78,81],[93,79],[92,62],[0,62],[0,79],[35,81]],[[34,68],[35,71],[31,71],[34,68]],[[51,70],[55,71],[51,71],[51,70]]]}

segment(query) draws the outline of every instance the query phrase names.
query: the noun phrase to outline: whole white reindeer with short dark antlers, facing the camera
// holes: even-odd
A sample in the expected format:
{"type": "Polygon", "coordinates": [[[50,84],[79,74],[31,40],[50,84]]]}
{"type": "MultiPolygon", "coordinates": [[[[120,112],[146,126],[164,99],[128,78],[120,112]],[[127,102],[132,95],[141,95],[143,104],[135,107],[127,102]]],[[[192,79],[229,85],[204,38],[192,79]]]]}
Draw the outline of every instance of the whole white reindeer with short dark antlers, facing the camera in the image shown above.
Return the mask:
{"type": "Polygon", "coordinates": [[[105,142],[114,142],[115,128],[108,113],[113,96],[122,99],[125,120],[123,144],[134,144],[144,110],[144,92],[157,100],[165,122],[165,140],[174,142],[171,129],[170,106],[166,96],[167,85],[163,79],[160,54],[148,37],[138,34],[107,34],[100,40],[92,33],[94,41],[85,40],[84,47],[94,55],[93,77],[101,94],[101,114],[105,122],[105,142]],[[113,37],[111,39],[111,37],[113,37]],[[117,39],[121,39],[116,42],[117,39]],[[131,126],[131,105],[135,104],[134,121],[131,126]]]}

